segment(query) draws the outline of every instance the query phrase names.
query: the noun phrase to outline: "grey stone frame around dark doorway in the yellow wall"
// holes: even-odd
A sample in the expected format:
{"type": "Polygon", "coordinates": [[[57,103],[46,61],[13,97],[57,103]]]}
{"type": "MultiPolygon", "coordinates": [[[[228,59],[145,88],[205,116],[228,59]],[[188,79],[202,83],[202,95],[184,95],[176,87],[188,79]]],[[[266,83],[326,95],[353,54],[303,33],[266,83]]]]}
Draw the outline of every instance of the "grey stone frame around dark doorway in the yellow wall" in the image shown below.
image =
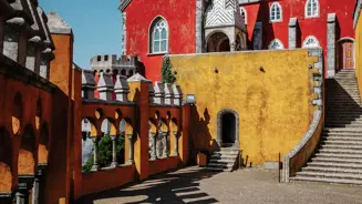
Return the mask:
{"type": "Polygon", "coordinates": [[[216,142],[218,144],[217,147],[221,147],[223,146],[223,116],[226,114],[226,113],[232,113],[234,116],[235,116],[235,143],[234,143],[234,146],[232,147],[236,147],[236,149],[239,149],[239,121],[240,121],[240,118],[239,118],[239,113],[236,112],[235,110],[232,109],[223,109],[221,111],[219,111],[217,113],[217,132],[216,132],[216,142]]]}

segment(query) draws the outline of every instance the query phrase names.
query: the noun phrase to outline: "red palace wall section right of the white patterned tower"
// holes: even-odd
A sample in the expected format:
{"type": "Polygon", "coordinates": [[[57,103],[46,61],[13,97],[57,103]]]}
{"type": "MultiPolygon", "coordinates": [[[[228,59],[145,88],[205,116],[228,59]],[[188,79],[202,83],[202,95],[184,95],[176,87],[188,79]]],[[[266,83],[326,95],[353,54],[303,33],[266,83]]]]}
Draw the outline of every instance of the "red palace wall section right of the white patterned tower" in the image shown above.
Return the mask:
{"type": "Polygon", "coordinates": [[[323,48],[324,63],[327,63],[327,19],[328,13],[335,13],[338,20],[337,41],[342,38],[354,38],[352,14],[354,9],[354,0],[345,0],[343,3],[335,0],[319,0],[320,3],[320,17],[307,18],[304,17],[306,1],[283,0],[278,1],[282,7],[282,21],[269,22],[269,8],[276,1],[263,1],[250,4],[244,4],[247,10],[247,31],[249,39],[249,49],[252,49],[252,32],[257,21],[262,22],[263,29],[263,49],[268,49],[268,45],[273,39],[279,39],[285,49],[289,48],[288,43],[288,24],[290,18],[298,18],[300,28],[299,43],[300,48],[309,35],[314,35],[320,45],[323,48]]]}

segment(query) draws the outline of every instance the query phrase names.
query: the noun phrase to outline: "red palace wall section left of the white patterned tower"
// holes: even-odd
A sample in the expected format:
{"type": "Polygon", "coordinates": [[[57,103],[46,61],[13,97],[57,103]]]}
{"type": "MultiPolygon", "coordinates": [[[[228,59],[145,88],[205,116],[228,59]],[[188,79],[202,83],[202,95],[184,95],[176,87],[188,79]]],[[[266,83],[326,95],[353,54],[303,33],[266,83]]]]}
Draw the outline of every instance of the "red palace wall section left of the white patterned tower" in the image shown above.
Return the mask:
{"type": "Polygon", "coordinates": [[[145,76],[161,81],[163,54],[148,54],[148,29],[161,16],[168,23],[172,54],[195,52],[195,1],[179,0],[133,0],[126,13],[126,54],[136,54],[145,65],[145,76]]]}

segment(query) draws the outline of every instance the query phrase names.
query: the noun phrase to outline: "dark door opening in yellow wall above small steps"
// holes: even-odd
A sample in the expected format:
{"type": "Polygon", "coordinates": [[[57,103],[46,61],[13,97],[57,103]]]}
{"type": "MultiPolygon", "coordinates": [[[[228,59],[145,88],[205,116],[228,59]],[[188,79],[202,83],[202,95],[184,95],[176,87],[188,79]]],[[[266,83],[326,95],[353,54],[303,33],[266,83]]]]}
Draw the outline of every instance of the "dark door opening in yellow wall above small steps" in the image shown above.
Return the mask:
{"type": "Polygon", "coordinates": [[[223,144],[234,144],[236,141],[236,119],[232,113],[223,115],[223,144]]]}

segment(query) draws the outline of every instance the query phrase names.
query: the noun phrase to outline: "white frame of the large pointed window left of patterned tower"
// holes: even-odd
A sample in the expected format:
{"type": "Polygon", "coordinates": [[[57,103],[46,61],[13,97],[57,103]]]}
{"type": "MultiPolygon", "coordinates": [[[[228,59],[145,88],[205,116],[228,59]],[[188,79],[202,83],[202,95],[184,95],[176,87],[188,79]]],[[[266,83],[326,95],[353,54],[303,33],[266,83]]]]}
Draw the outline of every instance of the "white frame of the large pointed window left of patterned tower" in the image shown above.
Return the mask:
{"type": "Polygon", "coordinates": [[[148,29],[148,53],[149,54],[165,54],[168,53],[168,47],[169,47],[169,27],[165,18],[158,16],[156,17],[148,29]],[[159,22],[164,22],[164,26],[161,28],[157,28],[159,22]],[[159,39],[157,40],[159,42],[159,50],[155,51],[155,30],[159,30],[159,39]],[[166,38],[162,38],[162,29],[166,29],[166,38]],[[162,50],[162,41],[166,41],[166,49],[162,50]]]}

